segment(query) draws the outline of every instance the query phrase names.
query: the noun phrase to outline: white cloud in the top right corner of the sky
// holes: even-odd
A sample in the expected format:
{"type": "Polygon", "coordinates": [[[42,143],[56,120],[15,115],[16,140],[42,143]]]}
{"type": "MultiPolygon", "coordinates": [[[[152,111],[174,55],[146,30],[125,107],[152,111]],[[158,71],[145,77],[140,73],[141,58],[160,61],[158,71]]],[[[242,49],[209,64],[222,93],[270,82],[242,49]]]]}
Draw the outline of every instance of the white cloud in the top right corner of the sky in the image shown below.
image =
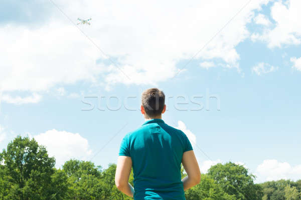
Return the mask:
{"type": "Polygon", "coordinates": [[[266,28],[262,34],[253,33],[251,38],[266,41],[269,47],[280,47],[282,44],[300,44],[300,7],[300,0],[288,0],[285,4],[276,1],[271,7],[271,17],[275,21],[275,27],[266,28]]]}

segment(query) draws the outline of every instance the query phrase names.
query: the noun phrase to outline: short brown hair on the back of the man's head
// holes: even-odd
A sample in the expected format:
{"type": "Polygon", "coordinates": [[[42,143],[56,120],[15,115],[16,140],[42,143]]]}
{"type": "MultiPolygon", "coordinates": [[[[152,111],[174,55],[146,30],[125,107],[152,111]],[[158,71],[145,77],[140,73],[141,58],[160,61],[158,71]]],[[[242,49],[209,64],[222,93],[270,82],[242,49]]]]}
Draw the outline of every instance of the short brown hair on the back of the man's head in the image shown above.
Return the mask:
{"type": "Polygon", "coordinates": [[[142,106],[149,117],[156,117],[162,113],[165,105],[165,94],[158,88],[149,88],[142,92],[142,106]]]}

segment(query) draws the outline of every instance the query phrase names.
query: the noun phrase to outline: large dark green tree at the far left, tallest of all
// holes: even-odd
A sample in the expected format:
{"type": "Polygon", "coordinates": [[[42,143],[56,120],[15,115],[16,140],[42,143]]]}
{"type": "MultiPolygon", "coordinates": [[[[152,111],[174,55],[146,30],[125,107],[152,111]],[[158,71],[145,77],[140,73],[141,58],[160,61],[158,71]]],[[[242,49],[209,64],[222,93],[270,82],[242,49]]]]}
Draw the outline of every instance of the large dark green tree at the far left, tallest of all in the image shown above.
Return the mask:
{"type": "MultiPolygon", "coordinates": [[[[52,177],[55,159],[35,139],[17,136],[1,153],[3,199],[50,199],[54,194],[52,177]]],[[[58,182],[56,182],[58,183],[58,182]]],[[[1,183],[0,183],[1,184],[1,183]]],[[[62,185],[58,185],[62,186],[62,185]]],[[[64,191],[64,187],[63,190],[64,191]]]]}

